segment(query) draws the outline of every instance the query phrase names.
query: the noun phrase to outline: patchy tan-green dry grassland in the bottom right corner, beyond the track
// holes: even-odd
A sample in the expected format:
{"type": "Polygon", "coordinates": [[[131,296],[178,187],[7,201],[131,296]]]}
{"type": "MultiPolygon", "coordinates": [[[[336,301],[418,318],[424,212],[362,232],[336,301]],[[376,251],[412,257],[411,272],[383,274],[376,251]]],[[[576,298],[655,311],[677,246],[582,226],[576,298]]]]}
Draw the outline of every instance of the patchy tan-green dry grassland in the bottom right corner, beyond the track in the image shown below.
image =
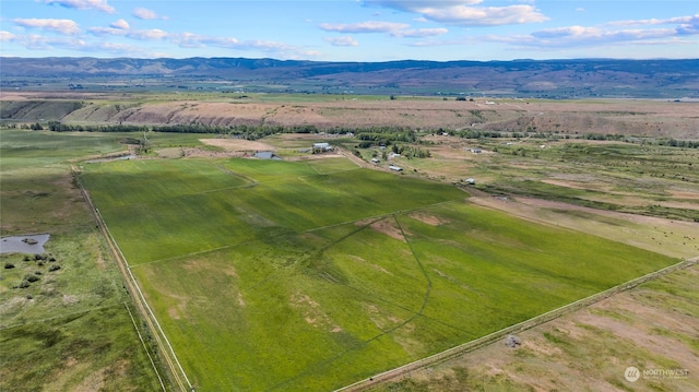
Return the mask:
{"type": "Polygon", "coordinates": [[[675,271],[518,336],[370,391],[695,391],[699,388],[696,281],[675,271]],[[627,367],[651,371],[625,379],[627,367]],[[680,370],[656,376],[654,369],[680,370]],[[686,371],[686,373],[685,373],[686,371]]]}

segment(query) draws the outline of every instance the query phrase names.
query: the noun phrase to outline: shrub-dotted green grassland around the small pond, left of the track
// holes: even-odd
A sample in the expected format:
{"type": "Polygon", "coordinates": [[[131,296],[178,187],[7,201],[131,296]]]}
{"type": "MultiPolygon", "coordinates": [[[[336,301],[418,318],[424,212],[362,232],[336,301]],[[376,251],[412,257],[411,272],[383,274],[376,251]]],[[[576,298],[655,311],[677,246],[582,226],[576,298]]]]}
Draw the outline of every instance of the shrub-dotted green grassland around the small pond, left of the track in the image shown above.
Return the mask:
{"type": "Polygon", "coordinates": [[[56,259],[0,254],[0,390],[162,390],[68,165],[123,149],[115,135],[0,130],[1,234],[49,233],[56,259]]]}

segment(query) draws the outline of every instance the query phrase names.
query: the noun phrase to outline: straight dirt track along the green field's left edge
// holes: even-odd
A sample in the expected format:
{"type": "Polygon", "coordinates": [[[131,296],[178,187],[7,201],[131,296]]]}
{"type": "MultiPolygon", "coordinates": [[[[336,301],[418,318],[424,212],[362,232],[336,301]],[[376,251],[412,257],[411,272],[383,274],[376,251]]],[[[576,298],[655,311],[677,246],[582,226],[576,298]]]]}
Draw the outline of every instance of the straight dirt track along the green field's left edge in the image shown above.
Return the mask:
{"type": "Polygon", "coordinates": [[[97,223],[97,228],[100,230],[100,233],[105,237],[105,240],[107,241],[107,246],[109,247],[109,250],[111,251],[116,260],[117,266],[122,274],[125,283],[130,288],[130,289],[128,288],[129,294],[131,294],[131,298],[133,298],[133,302],[137,306],[139,313],[141,314],[143,320],[146,322],[146,325],[149,326],[151,334],[155,338],[158,349],[162,353],[163,358],[165,359],[166,366],[169,368],[169,372],[171,373],[175,383],[177,384],[180,391],[185,391],[185,392],[194,391],[194,388],[189,381],[189,378],[187,377],[185,369],[182,369],[182,366],[177,359],[177,355],[175,354],[175,351],[173,349],[173,346],[169,340],[165,335],[165,332],[163,331],[161,323],[155,318],[155,313],[153,312],[147,301],[145,300],[145,296],[143,295],[143,292],[141,292],[141,287],[139,286],[138,282],[135,281],[135,277],[131,273],[131,269],[129,268],[129,263],[127,262],[126,257],[123,256],[117,241],[112,237],[111,231],[109,230],[109,227],[107,226],[102,214],[99,213],[99,210],[95,207],[95,204],[93,203],[92,198],[90,197],[90,193],[83,186],[82,180],[80,178],[80,170],[73,165],[71,165],[71,170],[73,173],[73,177],[75,178],[75,182],[80,188],[80,192],[83,199],[85,200],[85,203],[87,204],[87,207],[90,209],[93,217],[95,218],[95,222],[97,223]],[[138,293],[138,295],[135,295],[134,292],[138,293]],[[165,341],[165,344],[163,343],[163,341],[165,341]],[[166,344],[167,344],[167,347],[166,347],[166,344]],[[187,382],[188,388],[185,387],[185,383],[181,380],[182,377],[185,378],[185,382],[187,382]]]}

